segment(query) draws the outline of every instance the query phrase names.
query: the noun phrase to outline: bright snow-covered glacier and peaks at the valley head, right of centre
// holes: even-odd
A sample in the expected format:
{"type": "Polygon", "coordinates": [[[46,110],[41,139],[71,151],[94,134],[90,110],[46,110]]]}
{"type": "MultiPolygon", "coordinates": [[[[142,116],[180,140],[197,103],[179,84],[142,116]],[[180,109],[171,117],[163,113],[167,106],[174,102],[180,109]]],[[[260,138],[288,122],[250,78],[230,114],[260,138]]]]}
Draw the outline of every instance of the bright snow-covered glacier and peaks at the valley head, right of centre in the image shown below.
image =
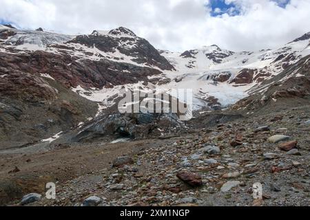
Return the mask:
{"type": "Polygon", "coordinates": [[[216,45],[183,53],[160,50],[178,74],[171,87],[194,89],[194,105],[227,107],[310,54],[309,34],[274,50],[230,52],[216,45]]]}

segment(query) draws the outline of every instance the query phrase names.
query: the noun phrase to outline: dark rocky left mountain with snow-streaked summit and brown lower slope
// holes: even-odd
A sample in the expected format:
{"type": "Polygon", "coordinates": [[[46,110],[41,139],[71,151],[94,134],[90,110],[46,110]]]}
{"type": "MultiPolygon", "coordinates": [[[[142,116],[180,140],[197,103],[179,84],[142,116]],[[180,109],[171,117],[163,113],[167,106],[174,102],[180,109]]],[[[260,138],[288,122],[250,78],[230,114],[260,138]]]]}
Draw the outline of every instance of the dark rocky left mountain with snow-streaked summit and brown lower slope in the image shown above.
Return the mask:
{"type": "Polygon", "coordinates": [[[0,39],[0,146],[6,148],[74,128],[106,107],[102,101],[117,96],[115,88],[174,69],[125,28],[67,36],[1,26],[0,39]],[[96,96],[101,90],[110,95],[96,96]]]}

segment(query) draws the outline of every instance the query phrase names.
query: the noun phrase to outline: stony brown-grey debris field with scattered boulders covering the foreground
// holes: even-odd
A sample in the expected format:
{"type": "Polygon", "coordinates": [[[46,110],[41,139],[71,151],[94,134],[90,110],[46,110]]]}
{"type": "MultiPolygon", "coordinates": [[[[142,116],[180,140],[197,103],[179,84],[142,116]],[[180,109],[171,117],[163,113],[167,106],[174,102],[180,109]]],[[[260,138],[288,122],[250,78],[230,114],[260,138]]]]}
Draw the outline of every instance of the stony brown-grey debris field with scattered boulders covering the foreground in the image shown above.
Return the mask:
{"type": "Polygon", "coordinates": [[[19,164],[14,157],[21,155],[1,155],[0,176],[43,175],[53,166],[50,175],[58,179],[56,199],[37,189],[32,193],[42,197],[24,191],[23,202],[10,205],[30,199],[28,206],[309,206],[309,120],[306,106],[205,124],[179,137],[23,155],[28,162],[19,164]],[[69,151],[65,162],[57,159],[69,151]],[[253,197],[256,183],[262,199],[253,197]]]}

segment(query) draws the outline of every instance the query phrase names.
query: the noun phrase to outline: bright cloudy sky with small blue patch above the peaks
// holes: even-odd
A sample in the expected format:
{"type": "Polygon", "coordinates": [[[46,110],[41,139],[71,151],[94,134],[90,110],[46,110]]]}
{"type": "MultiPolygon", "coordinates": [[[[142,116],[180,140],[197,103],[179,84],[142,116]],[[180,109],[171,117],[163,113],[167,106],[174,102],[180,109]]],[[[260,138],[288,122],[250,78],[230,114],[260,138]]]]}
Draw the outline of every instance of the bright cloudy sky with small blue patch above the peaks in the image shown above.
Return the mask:
{"type": "Polygon", "coordinates": [[[310,32],[310,0],[0,0],[0,23],[63,34],[129,28],[162,50],[273,49],[310,32]]]}

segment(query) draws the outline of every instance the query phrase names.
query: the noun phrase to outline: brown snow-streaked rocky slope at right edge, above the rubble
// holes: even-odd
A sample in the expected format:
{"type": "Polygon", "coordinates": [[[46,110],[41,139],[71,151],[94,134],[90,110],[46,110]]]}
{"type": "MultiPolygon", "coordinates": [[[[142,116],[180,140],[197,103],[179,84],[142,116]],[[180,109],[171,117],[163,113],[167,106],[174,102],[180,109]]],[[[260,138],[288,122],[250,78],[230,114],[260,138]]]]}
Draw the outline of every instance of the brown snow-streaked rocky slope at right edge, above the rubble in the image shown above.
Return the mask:
{"type": "Polygon", "coordinates": [[[310,56],[306,56],[278,76],[252,88],[250,96],[234,104],[233,109],[260,109],[271,104],[280,105],[282,100],[285,104],[305,104],[310,94],[309,72],[310,56]]]}

